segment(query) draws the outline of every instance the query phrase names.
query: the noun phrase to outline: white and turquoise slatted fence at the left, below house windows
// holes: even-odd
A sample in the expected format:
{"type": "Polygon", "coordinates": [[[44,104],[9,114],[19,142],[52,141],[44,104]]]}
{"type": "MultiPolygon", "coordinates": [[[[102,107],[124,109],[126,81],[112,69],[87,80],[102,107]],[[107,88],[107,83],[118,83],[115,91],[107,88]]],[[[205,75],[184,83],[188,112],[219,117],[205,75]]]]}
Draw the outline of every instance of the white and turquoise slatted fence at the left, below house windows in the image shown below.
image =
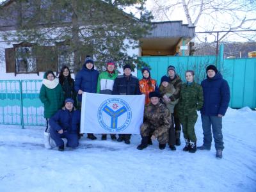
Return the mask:
{"type": "Polygon", "coordinates": [[[41,80],[0,80],[0,124],[45,125],[41,80]]]}

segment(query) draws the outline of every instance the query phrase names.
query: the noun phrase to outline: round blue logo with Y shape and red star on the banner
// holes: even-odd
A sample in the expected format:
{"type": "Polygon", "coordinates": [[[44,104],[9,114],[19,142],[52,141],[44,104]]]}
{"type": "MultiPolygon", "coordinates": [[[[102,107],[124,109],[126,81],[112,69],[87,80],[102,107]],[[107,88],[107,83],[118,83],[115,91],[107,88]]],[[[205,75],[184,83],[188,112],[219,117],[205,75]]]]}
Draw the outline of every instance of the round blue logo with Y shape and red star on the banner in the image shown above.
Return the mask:
{"type": "Polygon", "coordinates": [[[131,118],[131,108],[123,99],[104,100],[98,109],[99,124],[106,131],[123,131],[130,124],[131,118]]]}

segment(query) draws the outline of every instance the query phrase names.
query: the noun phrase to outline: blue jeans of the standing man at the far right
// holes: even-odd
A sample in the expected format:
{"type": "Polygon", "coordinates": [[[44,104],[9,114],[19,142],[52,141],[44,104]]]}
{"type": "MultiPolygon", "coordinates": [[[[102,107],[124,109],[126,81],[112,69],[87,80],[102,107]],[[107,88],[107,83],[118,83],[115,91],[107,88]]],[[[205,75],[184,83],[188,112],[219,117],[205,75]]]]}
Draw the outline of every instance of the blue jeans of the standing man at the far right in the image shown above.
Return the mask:
{"type": "Polygon", "coordinates": [[[202,126],[204,131],[204,146],[211,148],[212,133],[216,150],[224,148],[222,136],[222,117],[201,115],[202,126]],[[211,131],[212,127],[212,131],[211,131]]]}

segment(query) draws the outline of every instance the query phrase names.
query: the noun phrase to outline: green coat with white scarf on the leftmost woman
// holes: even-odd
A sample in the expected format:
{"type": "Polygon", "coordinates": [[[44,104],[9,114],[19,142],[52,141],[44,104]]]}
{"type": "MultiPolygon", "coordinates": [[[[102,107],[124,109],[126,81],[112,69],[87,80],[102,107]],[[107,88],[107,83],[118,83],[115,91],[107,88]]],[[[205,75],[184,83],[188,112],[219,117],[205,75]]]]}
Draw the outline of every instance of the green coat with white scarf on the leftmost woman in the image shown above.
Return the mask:
{"type": "Polygon", "coordinates": [[[43,84],[39,94],[39,98],[44,104],[45,118],[51,118],[58,109],[61,109],[64,101],[63,90],[59,79],[55,77],[53,81],[47,80],[49,73],[51,73],[51,71],[47,71],[44,74],[43,84]]]}

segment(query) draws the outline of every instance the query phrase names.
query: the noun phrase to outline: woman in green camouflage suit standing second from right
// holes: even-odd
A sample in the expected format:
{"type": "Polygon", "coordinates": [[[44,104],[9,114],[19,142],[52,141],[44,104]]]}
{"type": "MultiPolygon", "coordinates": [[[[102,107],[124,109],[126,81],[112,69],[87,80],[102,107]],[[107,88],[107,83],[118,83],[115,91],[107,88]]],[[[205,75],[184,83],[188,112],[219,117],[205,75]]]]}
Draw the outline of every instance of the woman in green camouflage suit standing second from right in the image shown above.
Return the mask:
{"type": "Polygon", "coordinates": [[[195,123],[198,116],[196,111],[199,111],[204,104],[202,86],[195,83],[194,75],[193,70],[186,71],[187,82],[182,84],[178,104],[179,118],[186,142],[183,150],[192,153],[196,152],[195,123]]]}

